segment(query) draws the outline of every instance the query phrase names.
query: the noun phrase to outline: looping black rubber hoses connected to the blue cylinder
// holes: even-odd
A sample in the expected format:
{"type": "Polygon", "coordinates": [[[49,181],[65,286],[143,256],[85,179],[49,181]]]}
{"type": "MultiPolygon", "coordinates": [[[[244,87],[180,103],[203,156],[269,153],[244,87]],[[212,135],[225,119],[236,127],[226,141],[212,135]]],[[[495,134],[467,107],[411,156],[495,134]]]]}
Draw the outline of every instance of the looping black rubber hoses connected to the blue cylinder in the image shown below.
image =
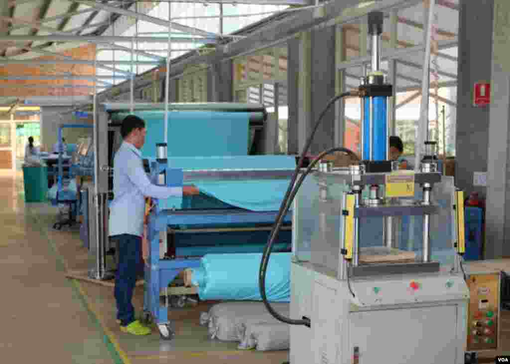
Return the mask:
{"type": "Polygon", "coordinates": [[[286,215],[287,211],[289,210],[289,208],[292,204],[292,200],[294,199],[294,197],[299,189],[299,186],[302,184],[304,178],[308,175],[308,173],[311,171],[311,169],[317,164],[317,162],[321,158],[323,158],[326,154],[333,153],[336,151],[343,151],[343,152],[346,152],[346,153],[354,156],[356,159],[358,158],[358,156],[354,152],[352,152],[351,150],[349,150],[347,148],[329,149],[329,150],[321,153],[316,159],[314,159],[314,161],[312,163],[310,163],[310,165],[307,168],[307,171],[303,174],[302,178],[300,178],[299,182],[294,186],[294,183],[296,182],[296,178],[297,178],[299,171],[303,165],[304,156],[307,154],[308,149],[310,148],[310,144],[312,143],[313,137],[322,121],[322,118],[324,117],[325,113],[327,112],[327,110],[329,109],[329,107],[331,105],[333,105],[337,100],[342,99],[347,96],[359,96],[359,93],[358,93],[358,91],[352,91],[352,92],[345,92],[345,93],[335,96],[333,99],[331,99],[327,103],[326,107],[324,108],[324,110],[321,112],[319,118],[317,119],[314,129],[312,130],[312,133],[310,134],[310,137],[308,138],[307,143],[305,143],[305,145],[304,145],[304,148],[303,148],[303,151],[299,158],[299,161],[297,163],[296,169],[295,169],[294,174],[292,175],[291,181],[289,183],[289,187],[287,188],[287,192],[285,194],[284,200],[282,201],[282,205],[280,206],[278,214],[276,216],[276,222],[273,226],[273,229],[271,230],[271,234],[269,235],[267,245],[266,245],[266,247],[264,249],[264,253],[262,255],[262,260],[261,260],[260,270],[259,270],[259,290],[260,290],[260,294],[262,297],[262,301],[264,302],[264,305],[266,306],[269,313],[271,313],[271,315],[275,319],[282,321],[284,323],[290,324],[290,325],[305,325],[305,326],[310,327],[310,320],[293,320],[293,319],[284,317],[281,314],[279,314],[278,312],[276,312],[273,309],[273,307],[271,306],[271,304],[267,301],[266,272],[267,272],[267,266],[269,263],[269,256],[271,255],[272,245],[273,245],[273,242],[276,239],[278,231],[283,223],[284,216],[286,215]]]}

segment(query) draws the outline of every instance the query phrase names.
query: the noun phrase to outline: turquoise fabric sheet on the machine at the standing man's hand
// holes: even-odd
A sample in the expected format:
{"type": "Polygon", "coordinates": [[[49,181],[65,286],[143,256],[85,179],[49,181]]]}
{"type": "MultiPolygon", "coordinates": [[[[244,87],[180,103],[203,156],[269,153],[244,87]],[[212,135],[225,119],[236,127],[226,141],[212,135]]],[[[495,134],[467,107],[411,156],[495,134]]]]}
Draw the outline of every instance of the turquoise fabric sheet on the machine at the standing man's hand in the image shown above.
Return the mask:
{"type": "MultiPolygon", "coordinates": [[[[278,170],[296,167],[294,157],[289,156],[224,156],[170,158],[170,168],[183,168],[186,171],[228,171],[229,169],[278,170]]],[[[277,211],[282,204],[290,179],[283,180],[231,180],[231,181],[186,181],[195,185],[201,192],[203,201],[209,199],[211,208],[227,207],[224,204],[250,211],[277,211]],[[212,201],[220,203],[212,203],[212,201]],[[223,206],[222,206],[223,205],[223,206]]],[[[183,198],[169,198],[162,201],[163,208],[193,208],[192,201],[183,198]]],[[[198,208],[198,207],[196,207],[198,208]]],[[[202,207],[207,208],[207,207],[202,207]]]]}

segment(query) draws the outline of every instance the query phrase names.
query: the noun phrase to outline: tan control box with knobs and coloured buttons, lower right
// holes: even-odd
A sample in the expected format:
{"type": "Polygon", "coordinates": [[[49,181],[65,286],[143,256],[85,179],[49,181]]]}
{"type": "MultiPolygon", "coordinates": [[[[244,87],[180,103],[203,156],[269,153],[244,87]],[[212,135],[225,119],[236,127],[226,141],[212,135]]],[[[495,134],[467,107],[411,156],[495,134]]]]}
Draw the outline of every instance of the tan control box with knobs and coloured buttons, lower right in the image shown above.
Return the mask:
{"type": "Polygon", "coordinates": [[[498,347],[499,273],[473,274],[467,280],[468,351],[494,350],[498,347]]]}

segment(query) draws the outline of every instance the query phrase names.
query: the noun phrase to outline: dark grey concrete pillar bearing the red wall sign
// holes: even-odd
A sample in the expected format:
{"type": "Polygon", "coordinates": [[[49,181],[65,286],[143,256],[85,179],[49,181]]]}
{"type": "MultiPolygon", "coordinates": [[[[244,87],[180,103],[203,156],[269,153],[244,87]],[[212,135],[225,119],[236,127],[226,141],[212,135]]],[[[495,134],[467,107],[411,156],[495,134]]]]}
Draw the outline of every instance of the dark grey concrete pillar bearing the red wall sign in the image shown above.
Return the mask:
{"type": "Polygon", "coordinates": [[[494,0],[466,0],[460,6],[455,182],[468,193],[485,195],[485,187],[473,186],[473,173],[487,172],[490,108],[473,107],[473,85],[491,80],[494,0]]]}

